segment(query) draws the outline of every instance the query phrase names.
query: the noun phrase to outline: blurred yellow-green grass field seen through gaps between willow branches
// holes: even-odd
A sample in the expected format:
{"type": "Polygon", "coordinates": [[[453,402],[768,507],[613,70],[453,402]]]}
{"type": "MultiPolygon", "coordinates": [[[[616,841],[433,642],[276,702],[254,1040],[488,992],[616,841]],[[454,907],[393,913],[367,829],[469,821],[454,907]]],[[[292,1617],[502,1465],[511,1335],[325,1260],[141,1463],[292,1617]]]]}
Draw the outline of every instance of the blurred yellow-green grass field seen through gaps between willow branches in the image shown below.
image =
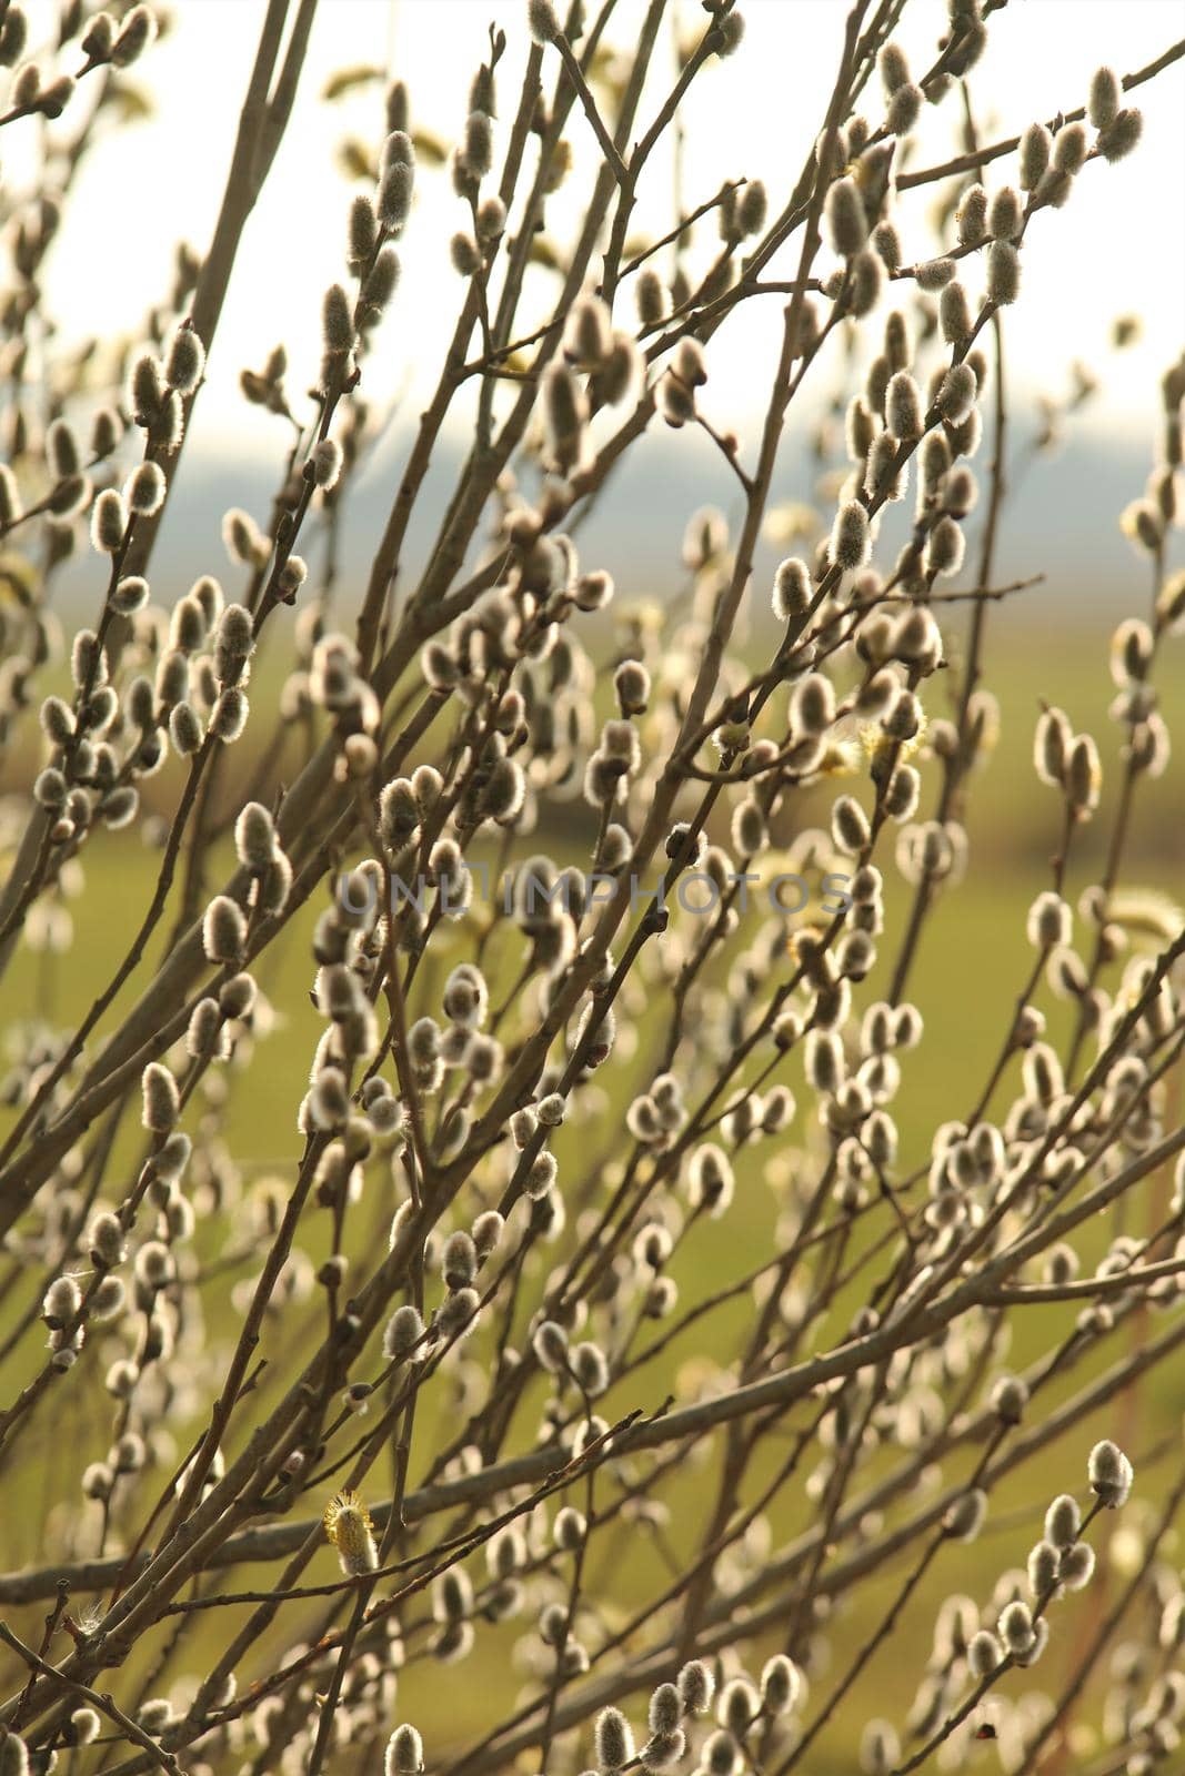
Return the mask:
{"type": "MultiPolygon", "coordinates": [[[[1048,886],[1048,856],[1055,845],[1057,806],[1052,792],[1043,790],[1030,769],[1032,723],[1039,707],[1039,698],[1062,703],[1077,726],[1093,726],[1103,751],[1103,808],[1087,831],[1080,852],[1070,870],[1068,893],[1071,902],[1086,883],[1091,881],[1091,868],[1096,867],[1101,845],[1109,833],[1110,803],[1109,783],[1116,778],[1116,737],[1103,719],[1105,705],[1110,698],[1110,686],[1105,671],[1105,654],[1100,638],[1080,634],[1068,638],[1039,636],[1022,625],[1002,625],[1002,638],[993,639],[988,650],[988,678],[1002,702],[1002,737],[990,767],[975,780],[970,836],[972,852],[965,881],[936,902],[927,936],[922,945],[920,961],[913,977],[910,996],[920,1005],[926,1016],[926,1039],[920,1050],[906,1057],[906,1078],[901,1092],[903,1142],[906,1153],[903,1165],[920,1156],[920,1142],[926,1140],[936,1122],[966,1114],[970,1110],[981,1080],[986,1076],[1000,1048],[1007,1028],[1016,993],[1030,966],[1030,950],[1025,943],[1023,920],[1034,895],[1048,886]]],[[[942,696],[931,694],[931,712],[942,712],[942,696]]],[[[251,730],[249,730],[251,732],[251,730]]],[[[240,749],[242,751],[242,749],[240,749]]],[[[251,774],[251,758],[236,757],[236,776],[251,774]]],[[[233,790],[231,790],[233,792],[233,790]]],[[[924,794],[924,808],[933,794],[924,794]]],[[[1180,821],[1185,806],[1185,771],[1181,760],[1174,760],[1171,773],[1160,783],[1142,785],[1132,826],[1130,868],[1126,879],[1141,888],[1157,888],[1181,899],[1183,890],[1183,824],[1180,821]]],[[[574,813],[574,822],[585,812],[574,813]]],[[[805,819],[819,817],[819,808],[807,812],[805,819]]],[[[588,817],[592,821],[592,815],[588,817]]],[[[590,828],[592,833],[592,828],[590,828]]],[[[556,838],[556,851],[576,844],[576,831],[556,838]]],[[[529,849],[545,849],[549,835],[537,833],[529,849]]],[[[107,980],[114,961],[123,952],[140,909],[147,902],[155,874],[153,854],[140,849],[131,860],[126,845],[112,838],[96,840],[85,854],[85,892],[71,902],[75,920],[75,945],[64,957],[23,954],[14,964],[5,982],[5,1021],[25,1016],[46,1016],[50,1021],[76,1016],[94,993],[107,980]]],[[[887,872],[887,934],[881,943],[881,957],[892,961],[899,941],[899,932],[910,902],[906,890],[892,870],[887,872]]],[[[320,1034],[320,1019],[314,1016],[307,987],[313,979],[313,966],[307,950],[307,932],[311,918],[320,902],[306,909],[306,916],[297,920],[282,940],[274,945],[259,968],[259,984],[274,1003],[281,1025],[272,1037],[258,1050],[256,1062],[240,1082],[231,1071],[227,1074],[231,1094],[226,1105],[224,1140],[235,1154],[236,1163],[247,1177],[266,1172],[291,1177],[300,1153],[300,1137],[295,1126],[297,1105],[302,1096],[307,1066],[320,1034]]],[[[462,940],[457,940],[462,941],[462,940]]],[[[156,950],[160,943],[156,945],[156,950]]],[[[156,954],[153,952],[153,955],[156,954]]],[[[464,952],[457,950],[457,959],[464,952]]],[[[510,966],[505,963],[505,966],[510,966]]],[[[883,984],[887,963],[878,966],[878,973],[863,989],[863,1003],[876,998],[883,984]]],[[[142,979],[147,979],[142,970],[142,979]]],[[[439,980],[439,975],[435,977],[439,980]]],[[[142,984],[142,980],[140,980],[142,984]]],[[[433,980],[425,970],[418,982],[412,1014],[435,1011],[432,1003],[433,980]]],[[[1050,1028],[1057,1037],[1066,1028],[1066,1009],[1055,1002],[1043,1000],[1050,1012],[1050,1028]]],[[[643,1087],[652,1074],[652,1053],[656,1030],[643,1019],[638,1030],[638,1044],[629,1062],[611,1064],[609,1078],[611,1099],[604,1101],[602,1119],[595,1126],[569,1128],[556,1146],[561,1176],[581,1176],[588,1165],[590,1153],[608,1147],[611,1131],[620,1121],[624,1105],[643,1087]]],[[[794,1083],[792,1069],[787,1073],[794,1083]]],[[[1007,1082],[1006,1082],[1007,1089],[1007,1082]]],[[[1000,1099],[997,1099],[998,1106],[1000,1099]]],[[[1180,1110],[1178,1110],[1180,1115],[1180,1110]]],[[[110,1172],[112,1186],[123,1177],[124,1169],[133,1163],[139,1151],[133,1117],[124,1119],[124,1128],[115,1151],[115,1163],[110,1172]]],[[[801,1138],[798,1124],[792,1126],[792,1142],[801,1138]]],[[[764,1149],[762,1149],[764,1151],[764,1149]]],[[[373,1193],[368,1186],[368,1201],[359,1211],[359,1222],[371,1229],[386,1231],[386,1220],[396,1202],[393,1186],[380,1183],[373,1193]],[[387,1201],[380,1201],[382,1190],[389,1192],[387,1201]]],[[[316,1222],[314,1222],[316,1225],[316,1222]]],[[[769,1229],[773,1225],[771,1201],[767,1186],[759,1179],[746,1185],[737,1197],[737,1206],[721,1229],[700,1227],[680,1250],[675,1275],[680,1284],[684,1302],[695,1300],[702,1293],[725,1284],[730,1277],[743,1275],[750,1266],[771,1256],[769,1229]],[[746,1190],[752,1192],[746,1208],[746,1190]]],[[[361,1231],[361,1229],[357,1229],[361,1231]]],[[[1139,1229],[1132,1229],[1139,1231],[1139,1229]]],[[[1110,1229],[1100,1227],[1091,1236],[1091,1245],[1098,1250],[1105,1247],[1110,1229]]],[[[226,1233],[217,1218],[199,1224],[195,1252],[203,1265],[217,1265],[224,1254],[226,1233]]],[[[359,1259],[366,1240],[359,1241],[359,1259]]],[[[306,1241],[309,1256],[318,1261],[322,1252],[306,1241]]],[[[860,1250],[860,1243],[853,1247],[860,1250]]],[[[876,1272],[874,1272],[876,1273],[876,1272]]],[[[235,1334],[236,1314],[231,1304],[231,1291],[236,1279],[251,1275],[245,1265],[233,1266],[219,1282],[222,1314],[217,1314],[206,1327],[206,1339],[217,1344],[235,1334]]],[[[846,1316],[849,1318],[862,1300],[863,1279],[853,1282],[840,1300],[835,1314],[828,1320],[833,1336],[840,1336],[846,1316]]],[[[7,1291],[0,1302],[0,1337],[14,1323],[14,1318],[28,1304],[28,1280],[23,1279],[7,1291]]],[[[711,1325],[711,1352],[714,1357],[727,1357],[736,1350],[746,1323],[752,1316],[750,1300],[741,1300],[716,1312],[711,1325]]],[[[1013,1344],[1007,1357],[1009,1366],[1022,1368],[1066,1328],[1064,1309],[1030,1309],[1025,1320],[1023,1336],[1013,1344]]],[[[313,1330],[313,1327],[311,1327],[313,1330]]],[[[1110,1341],[1103,1357],[1093,1364],[1075,1369],[1075,1389],[1082,1382],[1107,1368],[1128,1348],[1130,1339],[1141,1337],[1139,1325],[1128,1328],[1117,1341],[1110,1341]]],[[[36,1348],[37,1337],[32,1334],[25,1344],[36,1348]]],[[[638,1376],[631,1376],[620,1389],[608,1396],[608,1414],[624,1412],[629,1407],[656,1408],[668,1391],[680,1387],[680,1371],[695,1357],[702,1344],[702,1334],[688,1332],[668,1353],[638,1376]]],[[[7,1405],[32,1373],[32,1352],[27,1348],[4,1366],[4,1384],[0,1387],[0,1405],[7,1405]]],[[[265,1332],[263,1355],[277,1360],[282,1368],[282,1348],[272,1350],[265,1332]]],[[[80,1366],[82,1368],[82,1366],[80,1366]]],[[[439,1389],[441,1398],[446,1389],[439,1389]]],[[[1057,1389],[1050,1399],[1062,1398],[1057,1389]]],[[[1027,1549],[1039,1531],[1039,1515],[1057,1490],[1082,1490],[1084,1460],[1089,1444],[1101,1430],[1121,1435],[1121,1440],[1139,1456],[1151,1447],[1173,1424],[1180,1424],[1185,1410],[1185,1378],[1180,1366],[1164,1366],[1151,1382],[1141,1387],[1139,1394],[1125,1399],[1107,1415],[1107,1426],[1082,1424],[1073,1437],[1064,1439],[1041,1460],[1039,1471],[1023,1469],[1009,1485],[993,1495],[993,1513],[984,1536],[972,1549],[958,1549],[943,1554],[934,1575],[922,1588],[919,1598],[906,1611],[897,1629],[899,1645],[908,1650],[904,1659],[894,1653],[892,1645],[874,1662],[871,1673],[862,1682],[853,1703],[844,1710],[837,1728],[819,1740],[817,1755],[810,1771],[814,1776],[847,1776],[853,1769],[855,1732],[872,1714],[885,1714],[901,1723],[910,1694],[901,1689],[899,1671],[920,1673],[924,1653],[933,1630],[936,1600],[947,1591],[959,1590],[974,1595],[981,1602],[991,1591],[998,1574],[1023,1563],[1027,1549]]],[[[531,1433],[531,1410],[519,1421],[519,1437],[531,1433]]],[[[71,1442],[71,1462],[75,1449],[99,1456],[107,1446],[108,1403],[94,1389],[59,1384],[50,1407],[43,1408],[37,1421],[34,1442],[36,1458],[25,1456],[20,1467],[0,1471],[0,1483],[5,1488],[7,1510],[0,1518],[0,1566],[5,1570],[36,1563],[41,1552],[41,1531],[44,1527],[46,1501],[59,1494],[44,1485],[48,1471],[57,1462],[57,1451],[64,1437],[71,1442]]],[[[183,1447],[199,1428],[199,1421],[178,1423],[172,1426],[178,1446],[183,1447]]],[[[412,1485],[428,1465],[430,1453],[441,1439],[455,1431],[455,1415],[448,1405],[441,1412],[441,1421],[432,1423],[430,1415],[418,1421],[416,1451],[412,1458],[412,1485]]],[[[762,1476],[775,1471],[785,1458],[785,1444],[778,1437],[769,1439],[769,1447],[755,1467],[753,1488],[762,1476]]],[[[963,1462],[966,1458],[963,1456],[963,1462]]],[[[950,1462],[943,1479],[956,1478],[959,1467],[950,1462]]],[[[378,1471],[375,1471],[378,1476],[378,1471]]],[[[778,1497],[771,1511],[773,1545],[778,1547],[798,1529],[814,1518],[814,1506],[803,1488],[805,1474],[799,1474],[778,1497]]],[[[382,1483],[386,1487],[386,1479],[382,1483]]],[[[378,1488],[382,1490],[382,1488],[378,1488]]],[[[1155,1497],[1158,1490],[1155,1476],[1148,1476],[1137,1492],[1155,1497]]],[[[682,1550],[693,1545],[698,1534],[705,1501],[711,1495],[707,1476],[700,1471],[688,1471],[668,1487],[666,1497],[672,1506],[670,1545],[682,1550]]],[[[309,1508],[318,1510],[323,1501],[311,1499],[309,1508]]],[[[78,1504],[78,1522],[73,1526],[78,1552],[92,1545],[94,1522],[89,1513],[94,1506],[78,1504]]],[[[304,1515],[304,1513],[302,1513],[304,1515]]],[[[62,1524],[55,1524],[57,1534],[62,1524]]],[[[593,1577],[602,1579],[611,1572],[611,1591],[615,1611],[624,1614],[631,1602],[640,1602],[663,1582],[666,1572],[661,1549],[638,1533],[629,1542],[629,1559],[622,1559],[624,1547],[616,1531],[600,1556],[593,1561],[593,1577]]],[[[1180,1550],[1178,1550],[1180,1558],[1180,1550]]],[[[329,1577],[332,1574],[332,1556],[329,1550],[318,1558],[309,1579],[329,1577]]],[[[254,1582],[258,1574],[240,1574],[245,1582],[254,1582]]],[[[867,1632],[871,1611],[881,1602],[888,1602],[899,1582],[899,1568],[890,1566],[874,1586],[862,1591],[862,1625],[867,1632]]],[[[1096,1590],[1087,1598],[1077,1598],[1061,1606],[1064,1630],[1055,1632],[1048,1653],[1052,1673],[1068,1669],[1078,1639],[1075,1618],[1089,1607],[1098,1607],[1096,1590]]],[[[32,1632],[37,1611],[18,1613],[25,1616],[25,1627],[32,1632]]],[[[316,1618],[313,1613],[302,1618],[295,1609],[286,1618],[288,1641],[307,1632],[316,1618]]],[[[609,1616],[609,1625],[616,1616],[609,1616]]],[[[1061,1623],[1059,1623],[1061,1625],[1061,1623]]],[[[414,1707],[414,1719],[425,1732],[433,1760],[444,1756],[448,1748],[460,1748],[480,1728],[487,1726],[492,1710],[510,1712],[513,1698],[522,1682],[521,1671],[512,1661],[512,1645],[524,1632],[526,1623],[513,1623],[508,1629],[483,1630],[478,1637],[478,1653],[460,1669],[437,1668],[432,1661],[418,1664],[407,1678],[403,1700],[414,1707]]],[[[837,1621],[837,1639],[840,1646],[853,1648],[858,1641],[860,1623],[837,1621]]],[[[224,1630],[226,1632],[226,1630],[224,1630]]],[[[203,1625],[201,1637],[194,1639],[194,1648],[213,1645],[208,1641],[210,1630],[203,1625]]],[[[194,1657],[190,1650],[190,1661],[194,1657]]],[[[773,1648],[771,1648],[773,1650],[773,1648]]],[[[187,1662],[190,1662],[187,1661],[187,1662]]],[[[1043,1666],[1045,1677],[1046,1666],[1043,1666]]],[[[247,1680],[252,1671],[242,1673],[247,1680]]],[[[1018,1684],[1023,1678],[1016,1680],[1018,1684]]]]}

